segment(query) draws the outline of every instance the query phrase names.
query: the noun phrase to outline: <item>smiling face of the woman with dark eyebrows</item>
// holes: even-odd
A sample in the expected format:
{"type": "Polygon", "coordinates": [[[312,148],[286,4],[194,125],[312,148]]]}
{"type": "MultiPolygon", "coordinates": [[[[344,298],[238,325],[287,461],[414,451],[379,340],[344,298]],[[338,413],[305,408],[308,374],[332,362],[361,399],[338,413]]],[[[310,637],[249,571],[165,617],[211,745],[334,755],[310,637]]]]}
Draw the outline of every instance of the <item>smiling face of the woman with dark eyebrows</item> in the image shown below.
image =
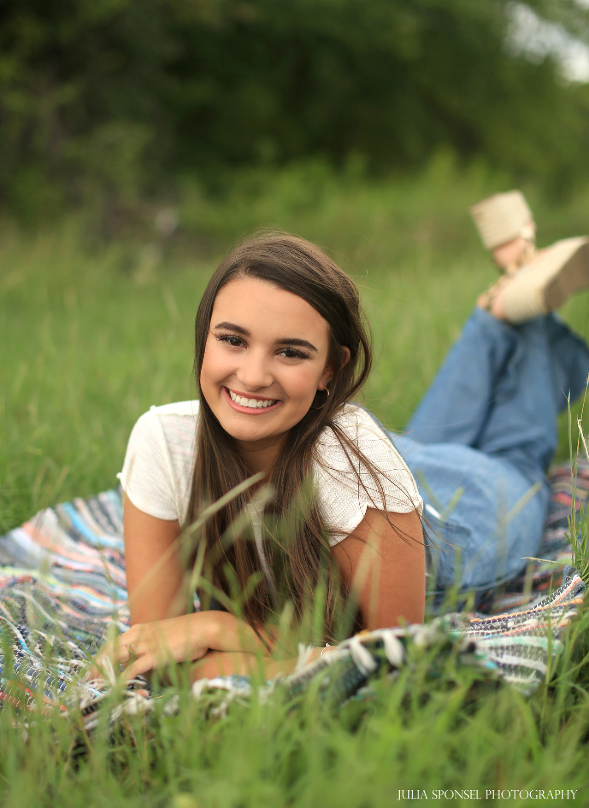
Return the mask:
{"type": "Polygon", "coordinates": [[[204,398],[236,440],[280,445],[325,389],[329,326],[313,306],[258,278],[218,292],[200,369],[204,398]]]}

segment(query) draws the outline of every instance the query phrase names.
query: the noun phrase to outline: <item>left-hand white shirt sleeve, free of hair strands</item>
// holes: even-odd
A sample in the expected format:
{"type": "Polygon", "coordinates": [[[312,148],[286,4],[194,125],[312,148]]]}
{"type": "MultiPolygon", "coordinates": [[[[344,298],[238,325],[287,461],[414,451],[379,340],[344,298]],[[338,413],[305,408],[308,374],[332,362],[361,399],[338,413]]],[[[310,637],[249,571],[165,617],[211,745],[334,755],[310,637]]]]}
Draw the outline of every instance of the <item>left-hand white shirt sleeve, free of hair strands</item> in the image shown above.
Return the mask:
{"type": "Polygon", "coordinates": [[[179,519],[178,483],[170,451],[155,410],[137,421],[128,440],[123,470],[117,475],[124,493],[140,511],[158,519],[179,519]]]}

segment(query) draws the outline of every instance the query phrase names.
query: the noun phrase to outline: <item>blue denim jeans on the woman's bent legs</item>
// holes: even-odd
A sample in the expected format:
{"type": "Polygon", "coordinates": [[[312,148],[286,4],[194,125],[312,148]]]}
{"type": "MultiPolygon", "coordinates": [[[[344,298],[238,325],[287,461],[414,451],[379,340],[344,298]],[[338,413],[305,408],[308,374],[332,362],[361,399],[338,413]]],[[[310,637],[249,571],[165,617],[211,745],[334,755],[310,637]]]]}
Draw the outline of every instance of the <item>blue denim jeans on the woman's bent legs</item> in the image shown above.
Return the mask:
{"type": "Polygon", "coordinates": [[[438,588],[488,588],[536,554],[557,415],[587,374],[587,343],[553,315],[509,326],[475,309],[406,434],[388,433],[423,496],[438,588]]]}

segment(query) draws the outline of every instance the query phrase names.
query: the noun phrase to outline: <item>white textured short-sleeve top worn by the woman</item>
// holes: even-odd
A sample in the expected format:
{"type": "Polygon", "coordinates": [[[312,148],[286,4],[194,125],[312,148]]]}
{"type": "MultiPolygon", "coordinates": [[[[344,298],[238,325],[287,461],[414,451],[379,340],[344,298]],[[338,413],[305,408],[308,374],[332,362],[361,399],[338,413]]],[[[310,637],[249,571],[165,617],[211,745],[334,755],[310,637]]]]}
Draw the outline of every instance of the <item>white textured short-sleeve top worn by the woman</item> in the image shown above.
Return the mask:
{"type": "MultiPolygon", "coordinates": [[[[196,460],[199,402],[152,406],[131,432],[118,474],[133,505],[158,519],[186,519],[196,460]]],[[[364,519],[368,507],[393,513],[423,511],[414,478],[385,432],[360,406],[343,407],[337,423],[379,472],[385,502],[368,469],[356,466],[329,428],[322,432],[313,479],[330,544],[342,541],[364,519]],[[359,484],[358,473],[364,483],[359,484]]],[[[357,462],[357,461],[356,461],[357,462]]]]}

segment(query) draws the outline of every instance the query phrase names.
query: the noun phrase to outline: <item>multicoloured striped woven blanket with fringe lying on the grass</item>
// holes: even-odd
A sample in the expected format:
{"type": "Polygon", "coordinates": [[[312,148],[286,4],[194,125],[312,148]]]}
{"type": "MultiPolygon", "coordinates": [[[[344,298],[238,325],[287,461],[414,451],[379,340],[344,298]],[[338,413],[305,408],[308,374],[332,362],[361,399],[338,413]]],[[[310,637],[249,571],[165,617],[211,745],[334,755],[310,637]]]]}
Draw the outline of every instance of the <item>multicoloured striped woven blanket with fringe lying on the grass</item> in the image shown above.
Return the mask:
{"type": "MultiPolygon", "coordinates": [[[[324,659],[282,680],[287,694],[301,692],[327,667],[340,701],[353,696],[383,668],[402,667],[407,648],[459,644],[465,662],[494,670],[532,692],[544,680],[566,625],[583,603],[585,586],[570,563],[566,538],[571,507],[589,498],[589,465],[579,465],[573,503],[570,469],[551,473],[552,501],[539,558],[490,605],[490,614],[454,614],[425,626],[363,633],[324,659]],[[556,562],[556,563],[555,563],[556,562]]],[[[40,511],[0,538],[0,701],[27,708],[39,697],[61,709],[82,709],[86,726],[108,683],[80,682],[79,673],[116,625],[128,626],[120,493],[106,491],[40,511]]],[[[242,677],[196,683],[195,696],[211,688],[247,692],[242,677]]],[[[126,693],[133,711],[149,710],[145,683],[126,693]],[[138,702],[141,706],[138,707],[138,702]]]]}

